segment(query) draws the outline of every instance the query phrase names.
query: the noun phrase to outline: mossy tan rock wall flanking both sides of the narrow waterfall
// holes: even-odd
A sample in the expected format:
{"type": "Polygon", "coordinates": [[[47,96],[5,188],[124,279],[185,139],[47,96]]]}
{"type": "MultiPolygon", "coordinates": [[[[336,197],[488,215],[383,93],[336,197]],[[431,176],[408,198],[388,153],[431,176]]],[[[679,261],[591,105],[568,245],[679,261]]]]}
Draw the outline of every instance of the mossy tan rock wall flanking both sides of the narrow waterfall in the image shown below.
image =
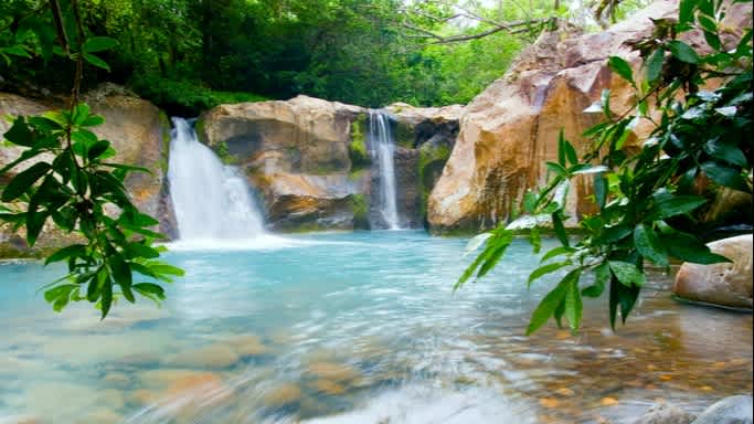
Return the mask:
{"type": "MultiPolygon", "coordinates": [[[[456,108],[393,105],[399,209],[412,226],[422,224],[420,181],[434,184],[438,162],[450,151],[456,108]],[[442,135],[440,135],[442,134],[442,135]],[[446,135],[447,134],[447,135],[446,135]],[[428,177],[422,176],[423,146],[428,177]]],[[[238,166],[257,188],[272,230],[350,230],[369,226],[372,187],[368,110],[297,96],[287,102],[221,105],[203,114],[197,130],[227,163],[238,166]]],[[[424,190],[428,192],[428,190],[424,190]]]]}

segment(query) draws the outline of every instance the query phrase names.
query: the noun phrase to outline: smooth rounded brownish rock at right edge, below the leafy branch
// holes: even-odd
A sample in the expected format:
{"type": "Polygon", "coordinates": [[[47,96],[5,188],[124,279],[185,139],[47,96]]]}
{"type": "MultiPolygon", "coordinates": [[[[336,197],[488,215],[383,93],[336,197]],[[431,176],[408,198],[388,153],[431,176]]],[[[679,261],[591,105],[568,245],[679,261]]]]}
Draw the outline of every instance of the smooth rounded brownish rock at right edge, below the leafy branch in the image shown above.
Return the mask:
{"type": "Polygon", "coordinates": [[[688,300],[752,309],[752,234],[719,240],[708,246],[733,263],[684,263],[676,275],[673,293],[688,300]]]}

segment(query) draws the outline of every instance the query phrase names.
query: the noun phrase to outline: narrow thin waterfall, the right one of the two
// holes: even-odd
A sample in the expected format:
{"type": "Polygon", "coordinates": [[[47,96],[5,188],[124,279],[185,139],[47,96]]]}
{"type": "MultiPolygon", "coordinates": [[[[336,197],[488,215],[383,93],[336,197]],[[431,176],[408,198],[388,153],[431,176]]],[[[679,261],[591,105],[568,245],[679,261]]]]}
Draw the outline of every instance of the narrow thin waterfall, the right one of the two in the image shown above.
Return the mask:
{"type": "Polygon", "coordinates": [[[380,170],[380,195],[378,208],[390,230],[401,227],[395,192],[395,140],[390,130],[390,118],[381,110],[369,112],[370,153],[380,170]]]}

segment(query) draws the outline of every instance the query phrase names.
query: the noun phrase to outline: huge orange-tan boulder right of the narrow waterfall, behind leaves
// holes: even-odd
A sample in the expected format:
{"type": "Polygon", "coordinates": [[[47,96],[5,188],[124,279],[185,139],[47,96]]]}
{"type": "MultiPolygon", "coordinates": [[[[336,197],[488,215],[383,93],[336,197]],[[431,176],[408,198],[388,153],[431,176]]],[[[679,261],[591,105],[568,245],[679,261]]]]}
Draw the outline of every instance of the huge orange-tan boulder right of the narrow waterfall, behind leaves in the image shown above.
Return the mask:
{"type": "MultiPolygon", "coordinates": [[[[615,112],[626,110],[633,100],[631,87],[610,72],[608,57],[622,56],[638,70],[641,59],[625,42],[650,35],[650,18],[673,18],[677,8],[676,1],[657,1],[606,31],[548,32],[523,51],[502,78],[466,107],[456,146],[429,195],[432,230],[478,231],[507,222],[525,191],[544,182],[545,162],[556,159],[561,129],[585,151],[588,140],[581,135],[602,116],[583,110],[605,88],[615,112]]],[[[740,8],[729,13],[736,20],[730,28],[751,26],[751,4],[740,8]]],[[[690,34],[688,41],[701,46],[697,39],[690,34]]],[[[644,121],[634,131],[640,136],[649,128],[644,121]]],[[[575,182],[566,205],[572,223],[595,211],[590,194],[586,178],[575,182]]]]}

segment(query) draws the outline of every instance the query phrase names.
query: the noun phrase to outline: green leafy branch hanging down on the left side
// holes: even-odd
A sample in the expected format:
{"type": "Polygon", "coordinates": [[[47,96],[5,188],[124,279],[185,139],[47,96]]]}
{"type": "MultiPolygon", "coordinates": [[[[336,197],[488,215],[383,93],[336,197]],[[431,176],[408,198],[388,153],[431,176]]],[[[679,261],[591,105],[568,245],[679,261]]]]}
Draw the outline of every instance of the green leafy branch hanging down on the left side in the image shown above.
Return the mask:
{"type": "MultiPolygon", "coordinates": [[[[38,44],[15,44],[18,52],[51,51],[72,61],[76,72],[67,109],[15,117],[3,135],[22,152],[0,169],[0,176],[18,172],[2,190],[0,219],[13,223],[17,230],[24,227],[30,246],[47,223],[79,235],[82,243],[46,257],[45,265],[65,262],[67,274],[45,286],[44,298],[56,311],[70,301],[88,300],[105,318],[120,297],[134,303],[135,294],[139,294],[159,304],[164,299],[164,289],[153,282],[170,282],[183,272],[158,259],[164,247],[152,243],[163,236],[150,230],[158,221],[137,210],[124,186],[129,172],[149,171],[109,161],[116,155],[110,142],[92,131],[104,118],[78,102],[84,62],[108,68],[99,54],[117,42],[87,36],[77,1],[65,6],[63,9],[56,0],[49,3],[54,38],[40,36],[38,44]],[[147,280],[135,282],[137,276],[147,280]]],[[[45,31],[34,24],[31,28],[38,33],[45,31]]]]}

